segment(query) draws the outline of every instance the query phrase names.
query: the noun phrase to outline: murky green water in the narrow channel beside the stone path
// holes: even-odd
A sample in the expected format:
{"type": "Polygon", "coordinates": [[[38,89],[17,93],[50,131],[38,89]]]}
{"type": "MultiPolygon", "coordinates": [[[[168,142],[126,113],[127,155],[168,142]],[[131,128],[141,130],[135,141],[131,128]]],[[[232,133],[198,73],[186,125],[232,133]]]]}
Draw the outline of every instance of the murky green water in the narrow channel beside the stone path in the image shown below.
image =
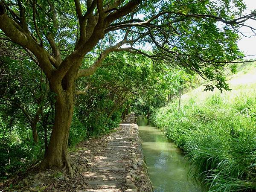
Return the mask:
{"type": "Polygon", "coordinates": [[[204,191],[188,177],[189,165],[182,151],[168,142],[160,130],[147,125],[145,117],[138,117],[137,124],[154,192],[204,191]]]}

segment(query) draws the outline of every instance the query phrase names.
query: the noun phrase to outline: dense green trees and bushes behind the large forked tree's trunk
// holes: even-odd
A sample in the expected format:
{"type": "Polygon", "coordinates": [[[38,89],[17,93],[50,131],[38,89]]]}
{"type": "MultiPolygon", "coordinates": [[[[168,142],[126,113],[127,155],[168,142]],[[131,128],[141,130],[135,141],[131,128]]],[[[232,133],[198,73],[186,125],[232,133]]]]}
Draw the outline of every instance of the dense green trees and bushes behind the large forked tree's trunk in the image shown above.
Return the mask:
{"type": "MultiPolygon", "coordinates": [[[[26,55],[22,57],[17,47],[7,44],[3,48],[10,54],[0,56],[0,177],[7,178],[44,156],[54,122],[55,99],[35,62],[26,55]],[[33,130],[38,135],[36,139],[33,130]]],[[[77,82],[78,88],[87,84],[87,89],[76,96],[70,147],[116,128],[130,112],[134,99],[158,86],[155,78],[161,73],[155,73],[148,59],[129,53],[108,59],[116,57],[116,65],[102,67],[77,82]]]]}

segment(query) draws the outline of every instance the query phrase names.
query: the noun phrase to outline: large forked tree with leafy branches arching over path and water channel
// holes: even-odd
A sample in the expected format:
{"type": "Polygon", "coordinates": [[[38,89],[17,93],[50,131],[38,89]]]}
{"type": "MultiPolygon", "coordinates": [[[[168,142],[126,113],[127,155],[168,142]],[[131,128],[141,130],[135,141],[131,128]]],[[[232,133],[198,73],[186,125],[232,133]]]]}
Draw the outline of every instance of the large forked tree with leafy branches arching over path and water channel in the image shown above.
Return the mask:
{"type": "Polygon", "coordinates": [[[241,15],[244,9],[242,0],[1,0],[0,38],[23,47],[56,94],[41,167],[64,166],[73,176],[67,141],[74,99],[83,92],[76,80],[95,73],[111,52],[178,64],[227,88],[220,71],[241,57],[236,31],[256,15],[241,15]]]}

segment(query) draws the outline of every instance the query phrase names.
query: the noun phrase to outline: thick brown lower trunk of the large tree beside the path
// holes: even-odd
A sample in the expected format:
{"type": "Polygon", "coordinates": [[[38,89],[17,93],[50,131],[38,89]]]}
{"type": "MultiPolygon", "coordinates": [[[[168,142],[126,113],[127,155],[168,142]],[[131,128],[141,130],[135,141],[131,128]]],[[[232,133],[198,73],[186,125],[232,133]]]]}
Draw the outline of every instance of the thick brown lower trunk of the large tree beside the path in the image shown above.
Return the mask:
{"type": "Polygon", "coordinates": [[[67,149],[70,125],[74,111],[75,85],[59,91],[55,102],[55,121],[49,145],[41,168],[67,168],[71,177],[76,167],[67,149]]]}

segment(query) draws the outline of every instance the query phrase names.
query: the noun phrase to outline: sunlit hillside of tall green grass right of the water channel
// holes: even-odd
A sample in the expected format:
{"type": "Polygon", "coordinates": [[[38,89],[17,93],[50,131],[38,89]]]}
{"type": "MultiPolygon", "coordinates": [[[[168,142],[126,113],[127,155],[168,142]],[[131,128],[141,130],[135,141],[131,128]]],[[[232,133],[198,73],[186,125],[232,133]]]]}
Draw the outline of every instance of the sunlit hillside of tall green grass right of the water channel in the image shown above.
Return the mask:
{"type": "Polygon", "coordinates": [[[256,191],[256,67],[240,65],[232,91],[198,87],[159,109],[152,119],[182,148],[209,191],[256,191]]]}

